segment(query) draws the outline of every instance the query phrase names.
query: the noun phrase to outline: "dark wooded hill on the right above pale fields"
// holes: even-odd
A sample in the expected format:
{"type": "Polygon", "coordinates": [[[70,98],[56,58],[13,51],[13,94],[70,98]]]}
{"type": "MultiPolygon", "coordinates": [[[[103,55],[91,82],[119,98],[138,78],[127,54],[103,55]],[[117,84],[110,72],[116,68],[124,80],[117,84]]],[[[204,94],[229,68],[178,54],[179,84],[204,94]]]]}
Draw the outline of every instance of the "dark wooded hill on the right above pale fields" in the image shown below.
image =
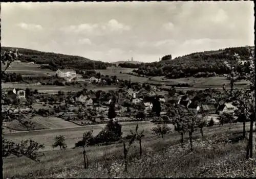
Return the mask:
{"type": "MultiPolygon", "coordinates": [[[[254,47],[250,47],[254,50],[254,47]]],[[[207,52],[193,53],[173,60],[165,60],[153,63],[142,63],[134,72],[147,76],[166,76],[167,78],[184,78],[189,76],[207,77],[217,74],[225,74],[229,69],[225,61],[234,64],[238,70],[240,66],[233,57],[239,54],[241,59],[247,59],[250,53],[246,47],[232,47],[207,52]]]]}

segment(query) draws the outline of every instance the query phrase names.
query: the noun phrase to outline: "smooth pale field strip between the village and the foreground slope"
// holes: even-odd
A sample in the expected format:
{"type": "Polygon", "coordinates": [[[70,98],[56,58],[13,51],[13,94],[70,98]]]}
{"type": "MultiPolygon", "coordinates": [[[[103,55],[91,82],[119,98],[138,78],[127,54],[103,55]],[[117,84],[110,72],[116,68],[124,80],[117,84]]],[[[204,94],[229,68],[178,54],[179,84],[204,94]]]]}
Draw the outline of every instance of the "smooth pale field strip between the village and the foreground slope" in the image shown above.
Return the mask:
{"type": "MultiPolygon", "coordinates": [[[[29,132],[18,132],[18,133],[11,133],[11,134],[4,134],[4,137],[7,139],[11,139],[13,141],[21,141],[25,139],[32,138],[36,141],[40,141],[41,143],[44,143],[46,145],[46,148],[44,150],[52,150],[52,144],[54,142],[54,137],[56,135],[64,135],[66,136],[66,143],[68,145],[68,148],[74,147],[74,144],[82,137],[82,134],[86,131],[93,130],[93,135],[96,136],[101,129],[106,124],[98,124],[98,125],[90,125],[90,126],[79,126],[79,127],[72,127],[72,128],[62,128],[57,129],[56,126],[60,125],[66,125],[65,121],[62,120],[63,124],[60,124],[58,120],[54,123],[54,121],[48,122],[42,120],[39,120],[35,118],[35,121],[40,121],[41,124],[48,126],[48,128],[51,128],[52,130],[40,130],[40,131],[29,131],[29,132]],[[54,129],[55,127],[55,129],[54,129]]],[[[50,121],[50,120],[49,120],[50,121]]],[[[141,124],[140,128],[142,130],[145,130],[145,133],[148,131],[151,131],[152,127],[155,126],[154,123],[145,121],[145,122],[120,122],[122,124],[122,132],[123,136],[126,136],[127,134],[130,134],[130,130],[134,130],[135,126],[137,124],[141,124]]],[[[74,124],[75,125],[75,124],[74,124]]],[[[67,125],[66,125],[67,126],[67,125]]],[[[57,148],[56,148],[57,149],[57,148]]]]}

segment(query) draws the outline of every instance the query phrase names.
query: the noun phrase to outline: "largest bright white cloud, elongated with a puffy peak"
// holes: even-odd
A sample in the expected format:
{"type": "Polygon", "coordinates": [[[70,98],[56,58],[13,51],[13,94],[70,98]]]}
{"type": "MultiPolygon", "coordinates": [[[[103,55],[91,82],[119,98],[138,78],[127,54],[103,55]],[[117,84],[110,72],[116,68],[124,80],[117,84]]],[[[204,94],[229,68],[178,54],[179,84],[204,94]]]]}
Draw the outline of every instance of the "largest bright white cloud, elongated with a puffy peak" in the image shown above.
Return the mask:
{"type": "Polygon", "coordinates": [[[60,28],[62,32],[66,33],[90,33],[94,35],[102,35],[105,32],[123,32],[131,30],[129,25],[111,19],[106,23],[83,23],[79,25],[69,25],[60,28]]]}

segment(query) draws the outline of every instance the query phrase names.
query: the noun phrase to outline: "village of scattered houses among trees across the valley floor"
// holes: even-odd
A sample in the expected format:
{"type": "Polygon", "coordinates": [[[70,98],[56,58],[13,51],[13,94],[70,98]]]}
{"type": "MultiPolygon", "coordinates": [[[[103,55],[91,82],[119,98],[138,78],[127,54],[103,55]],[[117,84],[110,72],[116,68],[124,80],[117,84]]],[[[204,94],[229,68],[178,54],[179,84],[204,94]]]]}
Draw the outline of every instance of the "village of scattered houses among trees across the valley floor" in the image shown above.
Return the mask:
{"type": "MultiPolygon", "coordinates": [[[[212,89],[204,91],[176,91],[175,87],[171,92],[158,89],[157,86],[145,83],[131,83],[116,79],[113,76],[110,79],[97,78],[97,75],[91,75],[90,78],[83,79],[87,85],[107,85],[106,80],[110,80],[118,88],[116,90],[87,90],[83,88],[78,92],[58,91],[57,94],[40,93],[38,90],[10,89],[6,91],[9,104],[20,104],[20,109],[12,109],[9,105],[4,106],[12,112],[18,110],[41,116],[39,120],[45,120],[45,117],[59,117],[63,120],[73,122],[77,125],[90,125],[108,123],[108,110],[113,102],[115,103],[116,117],[114,120],[124,121],[152,121],[157,122],[153,114],[154,100],[157,99],[161,104],[160,116],[167,123],[172,123],[170,111],[176,105],[182,105],[187,109],[192,109],[200,118],[207,123],[212,120],[214,124],[219,123],[221,114],[230,114],[234,118],[236,107],[231,103],[224,103],[220,100],[221,92],[212,89]],[[103,83],[103,84],[102,84],[103,83]],[[213,92],[214,91],[214,92],[213,92]],[[218,95],[217,95],[218,93],[218,95]]],[[[103,76],[102,76],[103,77],[103,76]]],[[[56,78],[64,79],[65,83],[76,81],[77,74],[75,70],[58,69],[56,78]]],[[[211,121],[211,123],[212,123],[211,121]]],[[[4,121],[7,122],[8,121],[4,121]]],[[[5,123],[8,127],[8,124],[5,123]]],[[[12,128],[12,127],[11,127],[12,128]]],[[[16,130],[16,129],[10,129],[16,130]]]]}

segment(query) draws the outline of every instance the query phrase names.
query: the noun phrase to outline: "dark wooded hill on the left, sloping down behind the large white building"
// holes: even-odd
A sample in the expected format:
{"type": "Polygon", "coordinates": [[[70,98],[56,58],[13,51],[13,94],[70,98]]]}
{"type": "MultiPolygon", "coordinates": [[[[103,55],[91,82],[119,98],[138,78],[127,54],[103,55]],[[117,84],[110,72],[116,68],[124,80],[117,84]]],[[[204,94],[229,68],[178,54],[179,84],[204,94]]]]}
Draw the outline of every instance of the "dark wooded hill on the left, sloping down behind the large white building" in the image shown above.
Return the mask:
{"type": "Polygon", "coordinates": [[[111,66],[110,63],[101,61],[94,61],[84,57],[63,55],[56,53],[40,52],[38,50],[16,48],[16,47],[1,47],[1,50],[18,49],[22,54],[19,58],[23,62],[35,62],[37,64],[49,64],[49,68],[56,70],[58,68],[72,68],[72,69],[106,69],[111,66]]]}

